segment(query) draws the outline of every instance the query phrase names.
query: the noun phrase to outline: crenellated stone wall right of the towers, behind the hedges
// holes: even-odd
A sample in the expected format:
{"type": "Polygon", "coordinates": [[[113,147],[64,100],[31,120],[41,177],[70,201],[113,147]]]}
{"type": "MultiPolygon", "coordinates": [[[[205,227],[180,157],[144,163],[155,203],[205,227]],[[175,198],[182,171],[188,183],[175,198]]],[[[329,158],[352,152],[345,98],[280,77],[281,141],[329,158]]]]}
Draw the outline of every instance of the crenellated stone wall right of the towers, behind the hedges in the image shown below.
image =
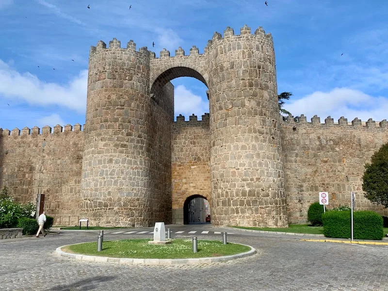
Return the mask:
{"type": "Polygon", "coordinates": [[[319,201],[319,192],[329,193],[328,209],[340,204],[350,206],[350,192],[356,194],[356,210],[376,210],[388,215],[387,209],[372,204],[364,197],[362,175],[372,154],[388,143],[387,121],[365,126],[359,119],[311,118],[301,116],[299,122],[283,122],[282,148],[285,165],[285,188],[289,223],[307,223],[307,210],[319,201]]]}

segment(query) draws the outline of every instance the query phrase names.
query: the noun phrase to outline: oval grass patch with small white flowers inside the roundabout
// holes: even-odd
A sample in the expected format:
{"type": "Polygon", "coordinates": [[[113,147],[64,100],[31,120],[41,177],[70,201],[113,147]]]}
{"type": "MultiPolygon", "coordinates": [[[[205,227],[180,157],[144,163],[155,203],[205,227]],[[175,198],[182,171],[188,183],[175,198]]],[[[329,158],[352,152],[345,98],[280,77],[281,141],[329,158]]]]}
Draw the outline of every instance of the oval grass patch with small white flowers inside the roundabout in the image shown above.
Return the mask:
{"type": "Polygon", "coordinates": [[[171,244],[148,244],[151,239],[118,240],[102,243],[102,251],[97,252],[97,242],[84,242],[62,248],[65,252],[82,255],[134,258],[134,259],[188,259],[235,255],[249,251],[245,245],[220,241],[198,240],[198,252],[193,253],[191,239],[173,239],[171,244]]]}

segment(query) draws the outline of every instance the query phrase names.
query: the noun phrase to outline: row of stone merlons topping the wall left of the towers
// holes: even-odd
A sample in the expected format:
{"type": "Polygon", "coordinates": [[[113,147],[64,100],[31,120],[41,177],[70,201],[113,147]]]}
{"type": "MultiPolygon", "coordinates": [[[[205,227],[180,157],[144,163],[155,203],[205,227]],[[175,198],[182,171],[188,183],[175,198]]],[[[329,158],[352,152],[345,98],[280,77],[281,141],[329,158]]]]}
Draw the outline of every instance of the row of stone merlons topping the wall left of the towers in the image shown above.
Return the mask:
{"type": "MultiPolygon", "coordinates": [[[[85,129],[85,125],[83,125],[83,129],[85,129]]],[[[0,135],[1,136],[36,136],[36,135],[47,135],[47,134],[58,134],[58,133],[67,133],[67,132],[79,132],[83,131],[81,130],[81,124],[77,123],[74,126],[70,124],[66,124],[65,127],[62,127],[61,125],[57,124],[54,126],[54,128],[49,127],[48,125],[44,126],[42,128],[42,131],[37,126],[34,126],[32,129],[25,127],[23,129],[1,129],[0,128],[0,135]]]]}

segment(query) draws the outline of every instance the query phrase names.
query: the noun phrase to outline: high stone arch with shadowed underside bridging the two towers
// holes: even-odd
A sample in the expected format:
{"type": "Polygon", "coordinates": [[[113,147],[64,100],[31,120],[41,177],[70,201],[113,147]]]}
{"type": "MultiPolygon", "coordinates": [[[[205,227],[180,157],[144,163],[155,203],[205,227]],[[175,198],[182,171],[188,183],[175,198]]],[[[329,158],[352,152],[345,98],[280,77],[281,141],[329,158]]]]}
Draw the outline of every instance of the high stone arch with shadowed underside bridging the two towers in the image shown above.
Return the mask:
{"type": "Polygon", "coordinates": [[[163,87],[169,81],[179,77],[192,77],[203,82],[209,88],[208,73],[201,67],[193,64],[169,64],[155,72],[150,80],[150,92],[155,91],[156,84],[163,87]]]}

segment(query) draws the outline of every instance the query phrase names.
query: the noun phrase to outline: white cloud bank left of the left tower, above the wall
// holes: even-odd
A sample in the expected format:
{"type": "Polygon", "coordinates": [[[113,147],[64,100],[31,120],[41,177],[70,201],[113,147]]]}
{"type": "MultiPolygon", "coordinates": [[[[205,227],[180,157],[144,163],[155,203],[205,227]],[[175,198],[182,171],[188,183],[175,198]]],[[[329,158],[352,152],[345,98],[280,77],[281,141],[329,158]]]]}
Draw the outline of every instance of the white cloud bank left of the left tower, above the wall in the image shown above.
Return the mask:
{"type": "Polygon", "coordinates": [[[21,74],[0,60],[0,96],[30,105],[59,105],[85,113],[87,78],[87,70],[82,70],[67,84],[49,83],[29,72],[21,74]]]}

